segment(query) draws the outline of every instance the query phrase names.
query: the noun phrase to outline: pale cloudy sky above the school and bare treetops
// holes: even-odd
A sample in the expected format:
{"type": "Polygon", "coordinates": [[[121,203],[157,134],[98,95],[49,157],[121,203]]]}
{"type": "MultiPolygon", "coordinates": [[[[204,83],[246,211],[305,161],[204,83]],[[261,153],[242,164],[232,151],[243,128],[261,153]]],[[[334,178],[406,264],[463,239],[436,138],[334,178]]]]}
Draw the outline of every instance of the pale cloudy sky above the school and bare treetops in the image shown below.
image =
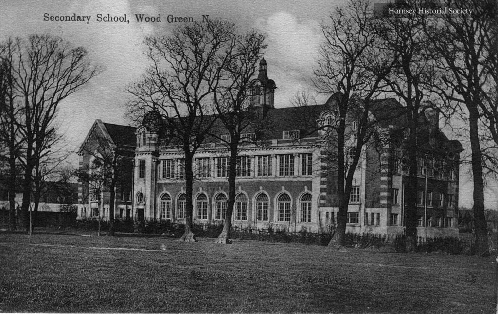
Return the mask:
{"type": "MultiPolygon", "coordinates": [[[[91,59],[104,71],[81,90],[66,98],[58,115],[68,147],[77,150],[96,119],[107,123],[130,124],[126,120],[126,87],[140,79],[148,62],[143,55],[143,38],[154,32],[170,32],[181,23],[168,23],[167,16],[192,16],[202,20],[228,18],[241,29],[257,28],[267,35],[264,53],[268,76],[277,86],[275,107],[291,106],[300,90],[310,85],[317,51],[322,41],[320,23],[327,22],[334,7],[344,0],[3,0],[0,35],[25,37],[49,32],[74,45],[84,46],[91,59]],[[44,21],[45,15],[90,15],[90,22],[44,21]],[[98,22],[97,14],[124,16],[129,23],[98,22]],[[161,23],[136,22],[134,14],[161,15],[161,23]]],[[[2,38],[2,39],[3,39],[2,38]]],[[[328,96],[317,98],[324,102],[328,96]]],[[[451,131],[450,131],[451,132],[451,131]]],[[[448,134],[450,138],[457,138],[448,134]]],[[[77,165],[78,156],[70,158],[77,165]]],[[[472,206],[472,184],[461,171],[460,206],[472,206]]],[[[496,183],[490,180],[486,206],[497,208],[496,183]]]]}

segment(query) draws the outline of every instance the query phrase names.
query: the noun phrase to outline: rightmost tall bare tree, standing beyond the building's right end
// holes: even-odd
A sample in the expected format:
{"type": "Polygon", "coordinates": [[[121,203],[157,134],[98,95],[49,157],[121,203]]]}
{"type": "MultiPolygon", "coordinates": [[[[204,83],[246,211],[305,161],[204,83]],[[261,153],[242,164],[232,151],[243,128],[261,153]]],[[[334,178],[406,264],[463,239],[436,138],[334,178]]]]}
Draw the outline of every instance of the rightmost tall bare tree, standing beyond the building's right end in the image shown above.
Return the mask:
{"type": "Polygon", "coordinates": [[[488,255],[482,140],[498,145],[498,6],[493,0],[443,0],[442,5],[473,10],[472,14],[423,17],[422,21],[430,47],[441,58],[438,67],[446,73],[439,94],[449,106],[464,106],[468,112],[476,253],[488,255]],[[480,119],[489,135],[480,135],[480,119]]]}

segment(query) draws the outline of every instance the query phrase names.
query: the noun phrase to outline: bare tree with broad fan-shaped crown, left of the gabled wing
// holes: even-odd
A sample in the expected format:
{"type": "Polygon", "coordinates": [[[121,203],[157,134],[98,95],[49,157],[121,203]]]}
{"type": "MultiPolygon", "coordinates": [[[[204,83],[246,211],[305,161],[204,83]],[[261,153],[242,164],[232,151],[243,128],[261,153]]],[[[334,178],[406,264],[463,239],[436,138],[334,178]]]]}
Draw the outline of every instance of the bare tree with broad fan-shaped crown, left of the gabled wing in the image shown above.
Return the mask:
{"type": "Polygon", "coordinates": [[[34,170],[44,152],[50,150],[47,138],[55,132],[57,109],[67,96],[97,75],[100,68],[90,62],[85,48],[74,47],[49,34],[13,40],[10,68],[13,93],[23,114],[16,126],[23,138],[22,212],[26,216],[34,170]]]}

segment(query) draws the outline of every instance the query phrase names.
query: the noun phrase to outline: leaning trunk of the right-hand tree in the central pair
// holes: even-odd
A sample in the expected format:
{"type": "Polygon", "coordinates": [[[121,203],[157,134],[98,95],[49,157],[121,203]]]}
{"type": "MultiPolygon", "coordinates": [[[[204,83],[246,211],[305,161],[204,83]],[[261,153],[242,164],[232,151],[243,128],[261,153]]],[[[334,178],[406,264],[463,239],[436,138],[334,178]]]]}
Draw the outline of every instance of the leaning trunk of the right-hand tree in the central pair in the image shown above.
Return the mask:
{"type": "Polygon", "coordinates": [[[216,239],[217,244],[230,244],[230,229],[232,228],[232,216],[234,214],[235,194],[236,194],[236,177],[237,177],[237,146],[231,145],[229,170],[228,170],[228,199],[227,212],[225,214],[225,224],[221,234],[216,239]]]}

